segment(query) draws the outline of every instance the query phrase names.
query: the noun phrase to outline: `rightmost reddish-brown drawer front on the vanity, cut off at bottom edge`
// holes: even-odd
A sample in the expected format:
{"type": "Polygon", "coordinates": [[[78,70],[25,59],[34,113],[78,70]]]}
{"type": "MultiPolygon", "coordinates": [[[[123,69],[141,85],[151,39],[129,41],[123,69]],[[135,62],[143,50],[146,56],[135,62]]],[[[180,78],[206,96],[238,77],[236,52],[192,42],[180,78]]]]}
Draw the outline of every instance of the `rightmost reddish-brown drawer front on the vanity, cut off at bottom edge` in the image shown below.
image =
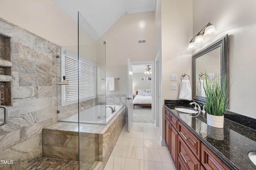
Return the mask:
{"type": "Polygon", "coordinates": [[[210,151],[204,144],[201,146],[202,150],[202,165],[206,170],[230,170],[212,151],[210,151]]]}

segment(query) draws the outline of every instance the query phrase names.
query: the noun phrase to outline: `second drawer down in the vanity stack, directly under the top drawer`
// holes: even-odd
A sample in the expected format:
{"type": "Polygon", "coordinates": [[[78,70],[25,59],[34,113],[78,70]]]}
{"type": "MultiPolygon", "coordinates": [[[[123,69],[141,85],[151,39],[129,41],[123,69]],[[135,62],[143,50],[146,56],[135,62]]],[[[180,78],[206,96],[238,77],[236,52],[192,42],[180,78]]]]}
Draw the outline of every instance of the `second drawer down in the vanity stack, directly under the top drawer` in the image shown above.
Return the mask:
{"type": "Polygon", "coordinates": [[[196,156],[188,149],[188,146],[183,139],[178,137],[178,157],[183,162],[184,166],[187,166],[190,170],[200,170],[200,162],[196,156]]]}

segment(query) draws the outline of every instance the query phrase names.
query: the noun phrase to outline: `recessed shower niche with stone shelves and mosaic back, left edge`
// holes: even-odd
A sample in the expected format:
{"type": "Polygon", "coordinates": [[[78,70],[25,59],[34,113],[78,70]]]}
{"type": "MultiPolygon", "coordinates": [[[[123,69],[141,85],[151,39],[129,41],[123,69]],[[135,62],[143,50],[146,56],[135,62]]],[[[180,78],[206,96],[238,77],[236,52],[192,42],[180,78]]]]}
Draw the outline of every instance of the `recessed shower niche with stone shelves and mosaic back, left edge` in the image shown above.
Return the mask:
{"type": "Polygon", "coordinates": [[[12,105],[11,37],[0,34],[0,105],[12,105]]]}

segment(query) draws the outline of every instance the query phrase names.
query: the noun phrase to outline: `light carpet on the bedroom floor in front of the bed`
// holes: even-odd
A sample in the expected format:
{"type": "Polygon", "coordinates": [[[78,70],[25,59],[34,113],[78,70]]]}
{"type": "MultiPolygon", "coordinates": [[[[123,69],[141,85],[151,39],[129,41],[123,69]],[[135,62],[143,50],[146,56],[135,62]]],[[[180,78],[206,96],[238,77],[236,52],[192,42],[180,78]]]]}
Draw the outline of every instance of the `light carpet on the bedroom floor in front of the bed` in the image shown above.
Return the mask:
{"type": "Polygon", "coordinates": [[[151,123],[151,107],[135,106],[133,109],[133,121],[151,123]]]}

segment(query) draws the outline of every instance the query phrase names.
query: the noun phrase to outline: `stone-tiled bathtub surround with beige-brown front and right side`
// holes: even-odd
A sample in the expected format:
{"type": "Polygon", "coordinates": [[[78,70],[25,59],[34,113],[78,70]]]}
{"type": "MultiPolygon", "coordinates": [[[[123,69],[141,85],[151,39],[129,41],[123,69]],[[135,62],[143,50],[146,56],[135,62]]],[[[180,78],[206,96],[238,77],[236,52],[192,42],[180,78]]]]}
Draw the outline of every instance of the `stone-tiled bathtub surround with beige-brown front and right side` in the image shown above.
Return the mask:
{"type": "MultiPolygon", "coordinates": [[[[103,169],[125,124],[123,107],[107,125],[80,123],[80,161],[103,169]]],[[[78,123],[57,122],[43,129],[43,156],[78,160],[78,123]]]]}

